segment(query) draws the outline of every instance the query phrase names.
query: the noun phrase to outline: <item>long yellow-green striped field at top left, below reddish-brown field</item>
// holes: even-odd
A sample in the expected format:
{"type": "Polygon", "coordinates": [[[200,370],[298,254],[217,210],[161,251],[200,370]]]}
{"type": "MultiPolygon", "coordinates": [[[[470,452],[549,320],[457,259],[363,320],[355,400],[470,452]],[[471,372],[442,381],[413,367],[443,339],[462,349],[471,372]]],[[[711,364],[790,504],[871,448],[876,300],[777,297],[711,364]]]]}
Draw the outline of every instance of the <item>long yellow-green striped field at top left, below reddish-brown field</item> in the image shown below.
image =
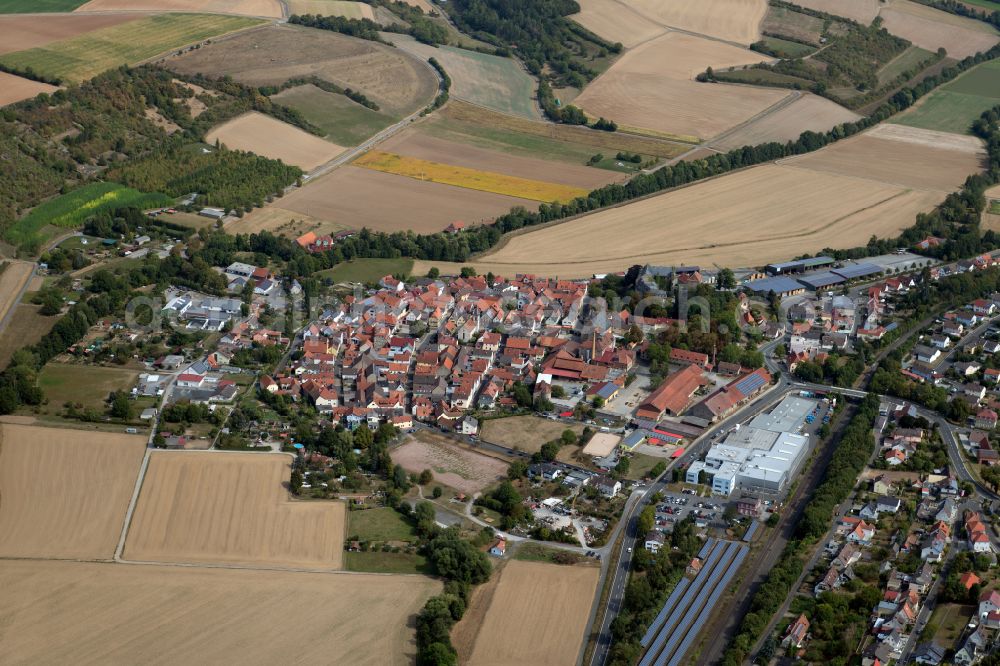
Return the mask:
{"type": "Polygon", "coordinates": [[[242,16],[150,16],[48,46],[8,53],[0,57],[0,63],[79,82],[120,65],[133,65],[186,44],[262,23],[242,16]]]}

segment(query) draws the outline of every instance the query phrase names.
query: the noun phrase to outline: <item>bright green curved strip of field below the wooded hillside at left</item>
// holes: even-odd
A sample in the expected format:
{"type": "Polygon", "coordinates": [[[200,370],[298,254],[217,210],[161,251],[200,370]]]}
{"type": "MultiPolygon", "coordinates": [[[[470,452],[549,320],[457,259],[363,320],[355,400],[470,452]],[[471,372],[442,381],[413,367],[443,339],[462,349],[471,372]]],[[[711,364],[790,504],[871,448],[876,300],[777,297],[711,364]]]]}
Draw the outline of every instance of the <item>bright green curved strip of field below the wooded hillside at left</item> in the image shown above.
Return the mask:
{"type": "Polygon", "coordinates": [[[140,192],[118,183],[90,183],[36,206],[4,232],[4,240],[30,249],[49,235],[44,232],[49,225],[72,229],[91,215],[112,208],[155,208],[171,203],[173,199],[165,194],[140,192]]]}

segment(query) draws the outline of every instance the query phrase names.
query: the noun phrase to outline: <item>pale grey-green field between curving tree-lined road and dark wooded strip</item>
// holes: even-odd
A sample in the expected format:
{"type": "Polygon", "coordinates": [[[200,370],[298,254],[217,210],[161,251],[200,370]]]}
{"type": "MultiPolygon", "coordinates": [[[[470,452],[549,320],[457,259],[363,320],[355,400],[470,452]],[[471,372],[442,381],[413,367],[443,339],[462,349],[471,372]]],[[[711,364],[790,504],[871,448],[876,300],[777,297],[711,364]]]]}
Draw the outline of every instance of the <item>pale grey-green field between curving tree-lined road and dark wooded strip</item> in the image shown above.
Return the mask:
{"type": "Polygon", "coordinates": [[[502,113],[538,120],[532,98],[535,80],[513,58],[467,51],[452,46],[433,47],[405,35],[389,39],[419,58],[435,58],[451,78],[451,96],[502,113]]]}

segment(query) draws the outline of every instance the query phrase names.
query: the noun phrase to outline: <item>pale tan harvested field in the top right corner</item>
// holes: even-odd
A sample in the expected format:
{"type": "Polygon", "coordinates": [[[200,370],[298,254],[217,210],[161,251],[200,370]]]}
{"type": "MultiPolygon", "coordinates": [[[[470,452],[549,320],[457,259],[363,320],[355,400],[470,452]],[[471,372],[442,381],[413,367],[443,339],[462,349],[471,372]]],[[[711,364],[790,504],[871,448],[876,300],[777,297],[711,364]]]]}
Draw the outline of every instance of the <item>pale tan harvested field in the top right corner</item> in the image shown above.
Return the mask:
{"type": "Polygon", "coordinates": [[[955,16],[909,0],[893,0],[879,13],[885,28],[928,51],[944,47],[952,58],[988,51],[1000,42],[988,24],[955,16]]]}

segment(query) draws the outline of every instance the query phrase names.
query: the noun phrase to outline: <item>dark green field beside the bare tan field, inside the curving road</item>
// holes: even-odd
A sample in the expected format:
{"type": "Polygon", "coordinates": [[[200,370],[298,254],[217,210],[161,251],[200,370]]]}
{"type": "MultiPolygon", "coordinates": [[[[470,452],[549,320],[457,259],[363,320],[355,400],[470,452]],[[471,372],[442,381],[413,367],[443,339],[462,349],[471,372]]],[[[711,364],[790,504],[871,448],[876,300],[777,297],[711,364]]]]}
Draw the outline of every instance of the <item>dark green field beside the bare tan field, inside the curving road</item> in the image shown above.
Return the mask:
{"type": "Polygon", "coordinates": [[[283,90],[271,99],[295,109],[306,120],[327,133],[327,140],[339,146],[356,146],[385,129],[397,118],[372,111],[344,95],[326,92],[314,85],[283,90]]]}

